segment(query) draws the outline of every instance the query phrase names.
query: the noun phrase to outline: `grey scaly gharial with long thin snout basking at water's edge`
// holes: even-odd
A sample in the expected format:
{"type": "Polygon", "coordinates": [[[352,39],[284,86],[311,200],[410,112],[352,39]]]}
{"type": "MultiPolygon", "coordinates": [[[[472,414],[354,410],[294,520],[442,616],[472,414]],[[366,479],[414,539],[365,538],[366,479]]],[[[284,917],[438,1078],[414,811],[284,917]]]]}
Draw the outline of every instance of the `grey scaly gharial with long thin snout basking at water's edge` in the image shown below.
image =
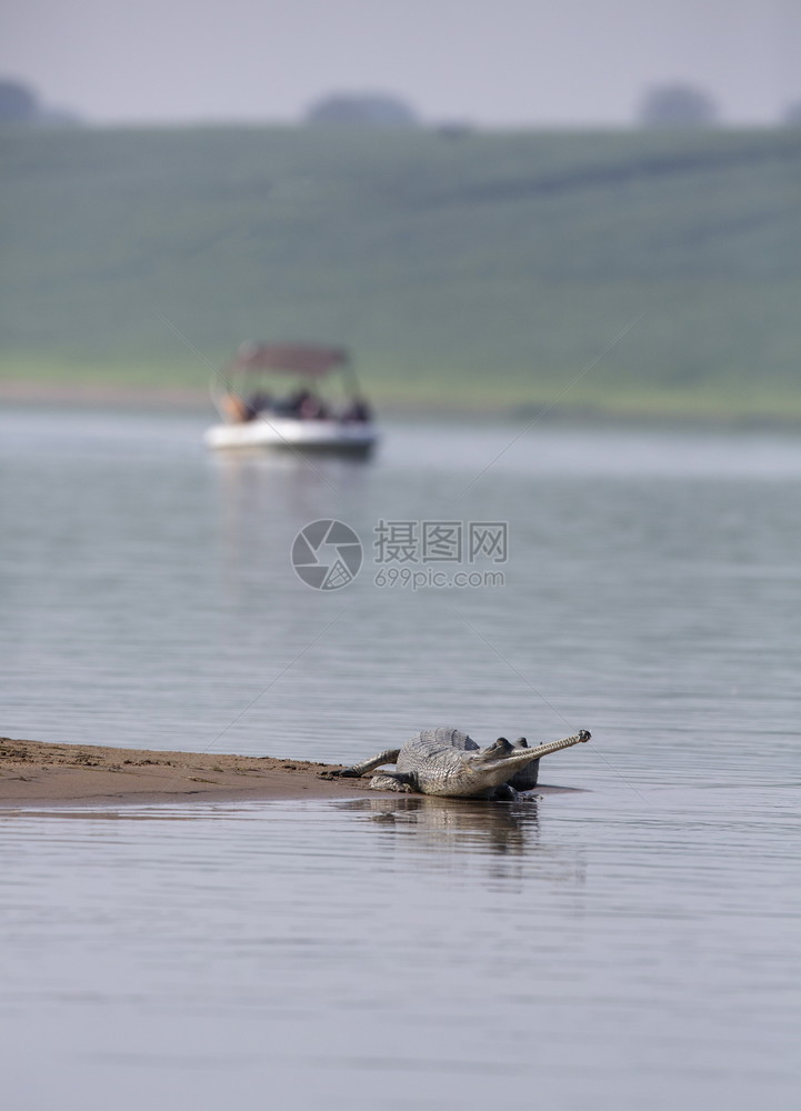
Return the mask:
{"type": "Polygon", "coordinates": [[[327,772],[326,778],[359,777],[394,763],[394,772],[373,775],[370,782],[373,790],[419,791],[452,799],[517,799],[518,791],[531,790],[537,783],[541,757],[589,739],[590,733],[582,729],[572,737],[534,749],[528,748],[523,737],[515,744],[499,737],[494,744],[480,749],[458,729],[424,729],[400,749],[387,749],[352,768],[327,772]]]}

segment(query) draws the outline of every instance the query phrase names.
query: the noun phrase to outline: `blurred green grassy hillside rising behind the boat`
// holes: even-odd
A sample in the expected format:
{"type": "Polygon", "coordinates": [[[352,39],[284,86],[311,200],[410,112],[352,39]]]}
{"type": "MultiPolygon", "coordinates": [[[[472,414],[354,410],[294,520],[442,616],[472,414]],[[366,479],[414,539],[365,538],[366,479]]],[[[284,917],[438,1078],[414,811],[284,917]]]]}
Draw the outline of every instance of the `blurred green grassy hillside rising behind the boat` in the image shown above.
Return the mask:
{"type": "Polygon", "coordinates": [[[379,400],[801,418],[801,132],[0,133],[0,377],[197,387],[349,344],[379,400]]]}

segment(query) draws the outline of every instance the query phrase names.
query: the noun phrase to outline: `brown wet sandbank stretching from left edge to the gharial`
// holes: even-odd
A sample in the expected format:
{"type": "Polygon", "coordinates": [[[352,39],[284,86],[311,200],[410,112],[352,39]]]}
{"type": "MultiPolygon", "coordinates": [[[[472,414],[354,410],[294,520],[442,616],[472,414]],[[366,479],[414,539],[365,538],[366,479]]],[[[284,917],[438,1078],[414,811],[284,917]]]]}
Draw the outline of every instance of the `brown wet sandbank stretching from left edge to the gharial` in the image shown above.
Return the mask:
{"type": "Polygon", "coordinates": [[[157,752],[0,738],[0,807],[174,802],[190,798],[342,799],[369,779],[320,779],[333,764],[280,757],[157,752]]]}

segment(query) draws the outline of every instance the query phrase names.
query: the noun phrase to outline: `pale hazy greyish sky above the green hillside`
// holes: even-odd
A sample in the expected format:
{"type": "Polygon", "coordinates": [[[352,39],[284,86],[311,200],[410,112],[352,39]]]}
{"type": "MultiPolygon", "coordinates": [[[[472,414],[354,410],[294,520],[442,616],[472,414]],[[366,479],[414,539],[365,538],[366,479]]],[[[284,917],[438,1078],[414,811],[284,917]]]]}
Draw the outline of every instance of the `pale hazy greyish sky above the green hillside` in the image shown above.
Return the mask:
{"type": "Polygon", "coordinates": [[[615,124],[673,80],[771,122],[801,100],[801,0],[3,0],[0,76],[98,122],[370,90],[427,121],[615,124]]]}

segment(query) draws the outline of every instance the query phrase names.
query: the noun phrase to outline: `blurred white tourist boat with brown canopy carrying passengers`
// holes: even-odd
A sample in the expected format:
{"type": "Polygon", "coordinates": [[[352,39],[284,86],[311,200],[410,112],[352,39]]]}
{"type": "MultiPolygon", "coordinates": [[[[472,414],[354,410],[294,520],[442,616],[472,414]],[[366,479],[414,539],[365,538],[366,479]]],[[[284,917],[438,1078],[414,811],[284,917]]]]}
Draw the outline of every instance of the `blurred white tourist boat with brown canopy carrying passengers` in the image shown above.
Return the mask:
{"type": "Polygon", "coordinates": [[[211,393],[222,423],[207,430],[209,448],[363,458],[378,441],[370,407],[343,348],[242,343],[214,376],[211,393]]]}

